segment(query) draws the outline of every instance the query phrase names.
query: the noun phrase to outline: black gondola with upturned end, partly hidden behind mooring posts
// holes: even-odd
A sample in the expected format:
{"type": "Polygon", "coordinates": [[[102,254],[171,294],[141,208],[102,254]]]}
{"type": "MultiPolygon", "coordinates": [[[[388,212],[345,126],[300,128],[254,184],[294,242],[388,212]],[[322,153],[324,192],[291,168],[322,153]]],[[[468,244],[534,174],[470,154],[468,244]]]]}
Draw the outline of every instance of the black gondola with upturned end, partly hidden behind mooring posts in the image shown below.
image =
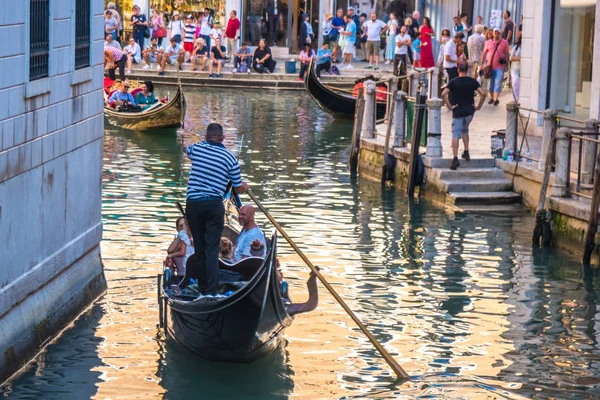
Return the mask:
{"type": "MultiPolygon", "coordinates": [[[[324,86],[317,78],[313,68],[314,62],[311,62],[304,87],[313,100],[325,111],[335,114],[354,116],[356,108],[356,98],[347,94],[339,93],[324,86]]],[[[385,118],[386,103],[377,102],[377,119],[385,118]]]]}

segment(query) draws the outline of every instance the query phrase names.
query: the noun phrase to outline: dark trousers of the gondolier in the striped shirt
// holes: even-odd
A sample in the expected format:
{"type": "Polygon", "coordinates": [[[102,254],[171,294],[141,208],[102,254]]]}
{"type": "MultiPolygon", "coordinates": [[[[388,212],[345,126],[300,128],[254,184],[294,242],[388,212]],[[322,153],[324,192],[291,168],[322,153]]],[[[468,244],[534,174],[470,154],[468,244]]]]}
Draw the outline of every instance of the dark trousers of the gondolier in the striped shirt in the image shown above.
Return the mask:
{"type": "Polygon", "coordinates": [[[219,285],[219,251],[225,225],[225,206],[223,199],[205,199],[188,200],[186,213],[194,238],[198,287],[203,293],[215,295],[219,285]]]}

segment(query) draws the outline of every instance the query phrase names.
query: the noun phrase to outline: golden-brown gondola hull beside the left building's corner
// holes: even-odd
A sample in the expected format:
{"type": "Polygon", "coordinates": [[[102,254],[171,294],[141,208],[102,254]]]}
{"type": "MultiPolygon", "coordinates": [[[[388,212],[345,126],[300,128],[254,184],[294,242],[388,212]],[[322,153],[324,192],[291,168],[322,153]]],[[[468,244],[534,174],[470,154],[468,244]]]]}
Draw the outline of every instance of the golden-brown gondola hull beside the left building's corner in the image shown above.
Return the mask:
{"type": "Polygon", "coordinates": [[[175,96],[166,103],[158,102],[140,112],[119,112],[105,105],[104,116],[111,125],[132,131],[180,127],[185,118],[183,89],[179,87],[175,96]]]}

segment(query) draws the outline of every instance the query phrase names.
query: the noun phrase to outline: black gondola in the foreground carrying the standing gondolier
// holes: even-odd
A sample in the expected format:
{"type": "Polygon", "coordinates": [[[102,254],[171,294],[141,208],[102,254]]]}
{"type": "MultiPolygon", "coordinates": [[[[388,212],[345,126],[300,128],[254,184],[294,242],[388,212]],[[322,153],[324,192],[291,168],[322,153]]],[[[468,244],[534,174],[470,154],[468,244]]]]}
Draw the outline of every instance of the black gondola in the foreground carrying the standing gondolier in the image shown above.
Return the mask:
{"type": "MultiPolygon", "coordinates": [[[[240,227],[231,212],[233,208],[226,203],[223,236],[235,240],[240,227]]],[[[264,259],[250,257],[234,265],[220,260],[220,294],[216,298],[188,290],[195,275],[193,257],[188,260],[180,283],[164,279],[161,282],[159,276],[160,325],[167,338],[204,359],[257,361],[278,348],[283,331],[292,324],[295,314],[316,308],[314,276],[308,283],[311,299],[301,307],[293,304],[282,290],[277,273],[276,231],[267,240],[264,259]]]]}

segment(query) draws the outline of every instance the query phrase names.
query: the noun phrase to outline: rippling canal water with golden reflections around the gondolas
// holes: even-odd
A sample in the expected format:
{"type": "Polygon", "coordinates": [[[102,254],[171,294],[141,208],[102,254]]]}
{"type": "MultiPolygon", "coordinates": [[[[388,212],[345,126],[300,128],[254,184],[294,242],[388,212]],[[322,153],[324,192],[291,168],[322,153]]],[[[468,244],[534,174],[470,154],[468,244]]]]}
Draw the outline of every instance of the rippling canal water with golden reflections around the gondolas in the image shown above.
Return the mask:
{"type": "MultiPolygon", "coordinates": [[[[532,252],[529,213],[455,214],[351,178],[352,121],[334,120],[302,93],[207,88],[187,97],[178,131],[107,126],[102,255],[109,289],[0,389],[4,396],[600,396],[600,282],[574,257],[532,252]],[[174,202],[184,199],[184,147],[213,121],[225,126],[232,150],[243,136],[242,172],[255,194],[411,382],[395,382],[323,287],[319,308],[298,316],[285,345],[256,364],[208,363],[165,343],[156,274],[175,234],[174,202]]],[[[283,241],[279,249],[290,292],[303,301],[308,270],[283,241]]]]}

